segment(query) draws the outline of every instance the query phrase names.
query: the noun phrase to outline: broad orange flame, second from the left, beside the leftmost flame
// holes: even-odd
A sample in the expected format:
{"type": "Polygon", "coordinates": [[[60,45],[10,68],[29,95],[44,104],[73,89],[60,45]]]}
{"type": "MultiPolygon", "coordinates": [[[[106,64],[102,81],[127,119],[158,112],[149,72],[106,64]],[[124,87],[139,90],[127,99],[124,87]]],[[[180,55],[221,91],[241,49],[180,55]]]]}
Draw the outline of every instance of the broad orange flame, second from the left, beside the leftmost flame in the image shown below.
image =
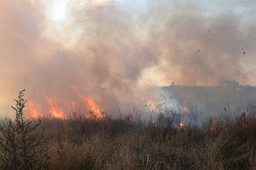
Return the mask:
{"type": "Polygon", "coordinates": [[[52,118],[58,118],[58,119],[68,119],[68,116],[65,115],[64,111],[62,108],[58,106],[58,103],[55,98],[46,98],[48,103],[50,104],[49,113],[52,118]]]}

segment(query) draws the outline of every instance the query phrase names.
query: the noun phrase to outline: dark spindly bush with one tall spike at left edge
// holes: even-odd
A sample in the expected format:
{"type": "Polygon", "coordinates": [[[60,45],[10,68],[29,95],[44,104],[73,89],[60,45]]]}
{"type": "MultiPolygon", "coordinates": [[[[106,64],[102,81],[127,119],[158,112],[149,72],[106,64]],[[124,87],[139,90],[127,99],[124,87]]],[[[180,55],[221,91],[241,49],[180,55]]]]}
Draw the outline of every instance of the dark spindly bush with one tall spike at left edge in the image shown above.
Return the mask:
{"type": "Polygon", "coordinates": [[[15,106],[16,119],[1,120],[0,125],[0,159],[2,169],[45,169],[48,166],[48,149],[43,130],[38,123],[25,120],[26,99],[24,91],[19,91],[15,106]]]}

